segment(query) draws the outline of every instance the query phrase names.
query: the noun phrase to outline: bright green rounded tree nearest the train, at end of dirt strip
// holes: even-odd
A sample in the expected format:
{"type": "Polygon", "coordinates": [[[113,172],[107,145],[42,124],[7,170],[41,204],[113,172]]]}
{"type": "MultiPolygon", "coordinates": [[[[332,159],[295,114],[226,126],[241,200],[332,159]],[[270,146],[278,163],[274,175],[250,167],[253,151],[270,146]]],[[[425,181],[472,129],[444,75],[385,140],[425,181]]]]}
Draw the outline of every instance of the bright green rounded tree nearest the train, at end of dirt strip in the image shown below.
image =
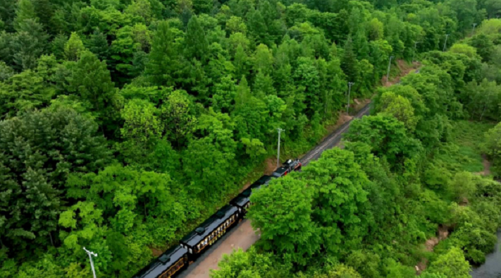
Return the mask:
{"type": "Polygon", "coordinates": [[[321,238],[311,220],[313,191],[307,181],[289,175],[251,195],[254,205],[247,215],[261,231],[264,250],[299,265],[307,265],[320,250],[321,238]]]}

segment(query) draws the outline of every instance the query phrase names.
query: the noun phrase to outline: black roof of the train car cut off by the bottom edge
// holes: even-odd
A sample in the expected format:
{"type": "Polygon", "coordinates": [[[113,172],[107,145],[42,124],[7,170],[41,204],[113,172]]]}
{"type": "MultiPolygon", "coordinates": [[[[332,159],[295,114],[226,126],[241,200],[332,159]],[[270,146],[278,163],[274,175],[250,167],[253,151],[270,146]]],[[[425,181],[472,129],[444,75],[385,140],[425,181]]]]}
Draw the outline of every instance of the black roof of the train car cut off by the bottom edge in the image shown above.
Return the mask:
{"type": "Polygon", "coordinates": [[[185,248],[180,245],[174,246],[163,252],[159,258],[156,258],[153,262],[140,270],[140,272],[137,272],[132,278],[157,278],[186,254],[187,250],[185,248]]]}

